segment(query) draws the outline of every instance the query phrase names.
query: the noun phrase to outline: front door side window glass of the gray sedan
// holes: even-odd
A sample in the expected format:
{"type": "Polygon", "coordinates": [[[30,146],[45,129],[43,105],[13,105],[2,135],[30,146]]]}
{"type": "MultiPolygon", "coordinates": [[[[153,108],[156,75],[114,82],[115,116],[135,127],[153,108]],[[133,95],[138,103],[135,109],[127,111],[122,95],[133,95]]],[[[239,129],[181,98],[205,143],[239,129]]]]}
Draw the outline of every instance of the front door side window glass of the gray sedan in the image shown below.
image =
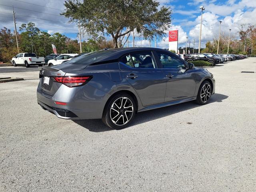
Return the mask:
{"type": "Polygon", "coordinates": [[[164,52],[156,52],[163,68],[169,69],[186,69],[184,62],[176,56],[164,52]]]}

